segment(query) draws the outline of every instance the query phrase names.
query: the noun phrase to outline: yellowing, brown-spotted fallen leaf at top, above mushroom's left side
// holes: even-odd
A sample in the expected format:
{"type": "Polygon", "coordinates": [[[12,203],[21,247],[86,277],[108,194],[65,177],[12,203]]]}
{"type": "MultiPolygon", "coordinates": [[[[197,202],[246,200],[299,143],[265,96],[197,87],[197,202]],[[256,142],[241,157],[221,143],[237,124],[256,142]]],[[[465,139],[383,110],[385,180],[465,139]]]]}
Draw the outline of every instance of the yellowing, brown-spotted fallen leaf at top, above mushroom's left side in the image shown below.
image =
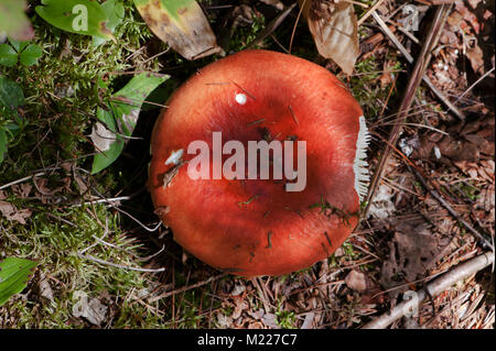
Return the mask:
{"type": "Polygon", "coordinates": [[[194,0],[134,0],[151,31],[186,59],[222,51],[205,13],[194,0]]]}

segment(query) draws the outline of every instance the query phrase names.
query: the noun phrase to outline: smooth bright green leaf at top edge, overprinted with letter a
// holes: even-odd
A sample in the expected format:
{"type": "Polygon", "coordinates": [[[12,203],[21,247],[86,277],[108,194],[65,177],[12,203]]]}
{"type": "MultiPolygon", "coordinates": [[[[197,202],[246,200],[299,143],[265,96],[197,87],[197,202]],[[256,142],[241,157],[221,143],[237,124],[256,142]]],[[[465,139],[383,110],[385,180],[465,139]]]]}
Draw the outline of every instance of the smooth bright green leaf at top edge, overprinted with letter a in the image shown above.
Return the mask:
{"type": "Polygon", "coordinates": [[[91,0],[42,0],[36,13],[50,24],[66,32],[115,40],[108,29],[108,17],[91,0]]]}

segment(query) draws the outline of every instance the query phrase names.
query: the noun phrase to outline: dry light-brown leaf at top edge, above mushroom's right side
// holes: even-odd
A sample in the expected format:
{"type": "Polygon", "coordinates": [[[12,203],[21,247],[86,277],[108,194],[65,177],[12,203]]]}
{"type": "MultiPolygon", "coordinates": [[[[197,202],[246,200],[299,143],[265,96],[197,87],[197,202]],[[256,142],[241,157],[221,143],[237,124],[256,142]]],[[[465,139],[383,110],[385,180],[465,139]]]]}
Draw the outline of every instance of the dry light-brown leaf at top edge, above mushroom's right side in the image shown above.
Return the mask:
{"type": "Polygon", "coordinates": [[[299,0],[319,53],[353,74],[359,55],[358,26],[353,4],[337,0],[299,0]]]}

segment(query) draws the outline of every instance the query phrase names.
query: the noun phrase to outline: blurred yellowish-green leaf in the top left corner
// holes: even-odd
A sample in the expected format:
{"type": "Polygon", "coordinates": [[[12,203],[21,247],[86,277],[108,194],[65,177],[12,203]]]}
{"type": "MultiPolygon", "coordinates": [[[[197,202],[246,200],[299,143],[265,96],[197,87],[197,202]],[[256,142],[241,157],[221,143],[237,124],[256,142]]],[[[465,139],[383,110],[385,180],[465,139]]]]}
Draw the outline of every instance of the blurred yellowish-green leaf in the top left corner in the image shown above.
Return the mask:
{"type": "Polygon", "coordinates": [[[34,37],[24,9],[26,9],[25,0],[0,0],[0,34],[6,32],[9,37],[18,41],[34,37]]]}

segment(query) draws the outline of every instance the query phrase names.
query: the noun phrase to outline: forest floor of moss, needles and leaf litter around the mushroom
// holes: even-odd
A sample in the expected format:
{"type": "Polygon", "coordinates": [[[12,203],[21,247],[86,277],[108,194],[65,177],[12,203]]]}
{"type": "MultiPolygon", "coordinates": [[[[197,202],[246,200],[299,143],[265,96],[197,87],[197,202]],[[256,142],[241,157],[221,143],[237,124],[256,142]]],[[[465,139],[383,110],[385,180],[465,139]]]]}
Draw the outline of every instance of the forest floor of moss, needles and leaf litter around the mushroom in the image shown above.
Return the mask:
{"type": "MultiPolygon", "coordinates": [[[[31,67],[0,65],[0,76],[25,96],[22,128],[0,164],[0,260],[37,262],[26,288],[0,307],[0,328],[360,328],[403,293],[420,292],[494,245],[494,1],[451,7],[425,72],[444,101],[420,84],[368,211],[343,246],[301,272],[249,279],[186,253],[160,226],[144,187],[150,157],[143,155],[160,103],[219,57],[185,61],[150,32],[131,0],[122,2],[117,43],[95,47],[89,36],[51,26],[33,10],[40,1],[29,1],[43,55],[31,67]],[[158,105],[140,113],[117,162],[91,175],[98,78],[117,91],[142,72],[171,78],[158,105]]],[[[319,55],[298,7],[267,33],[292,1],[198,2],[227,54],[263,33],[255,47],[291,46],[291,54],[334,73],[364,109],[373,135],[368,163],[377,171],[435,1],[358,0],[367,6],[355,6],[358,20],[366,19],[349,76],[319,55]],[[413,63],[369,15],[377,2],[376,13],[413,63]],[[418,31],[401,24],[407,4],[419,11],[418,31]]],[[[389,328],[494,328],[494,294],[489,266],[389,328]]]]}

